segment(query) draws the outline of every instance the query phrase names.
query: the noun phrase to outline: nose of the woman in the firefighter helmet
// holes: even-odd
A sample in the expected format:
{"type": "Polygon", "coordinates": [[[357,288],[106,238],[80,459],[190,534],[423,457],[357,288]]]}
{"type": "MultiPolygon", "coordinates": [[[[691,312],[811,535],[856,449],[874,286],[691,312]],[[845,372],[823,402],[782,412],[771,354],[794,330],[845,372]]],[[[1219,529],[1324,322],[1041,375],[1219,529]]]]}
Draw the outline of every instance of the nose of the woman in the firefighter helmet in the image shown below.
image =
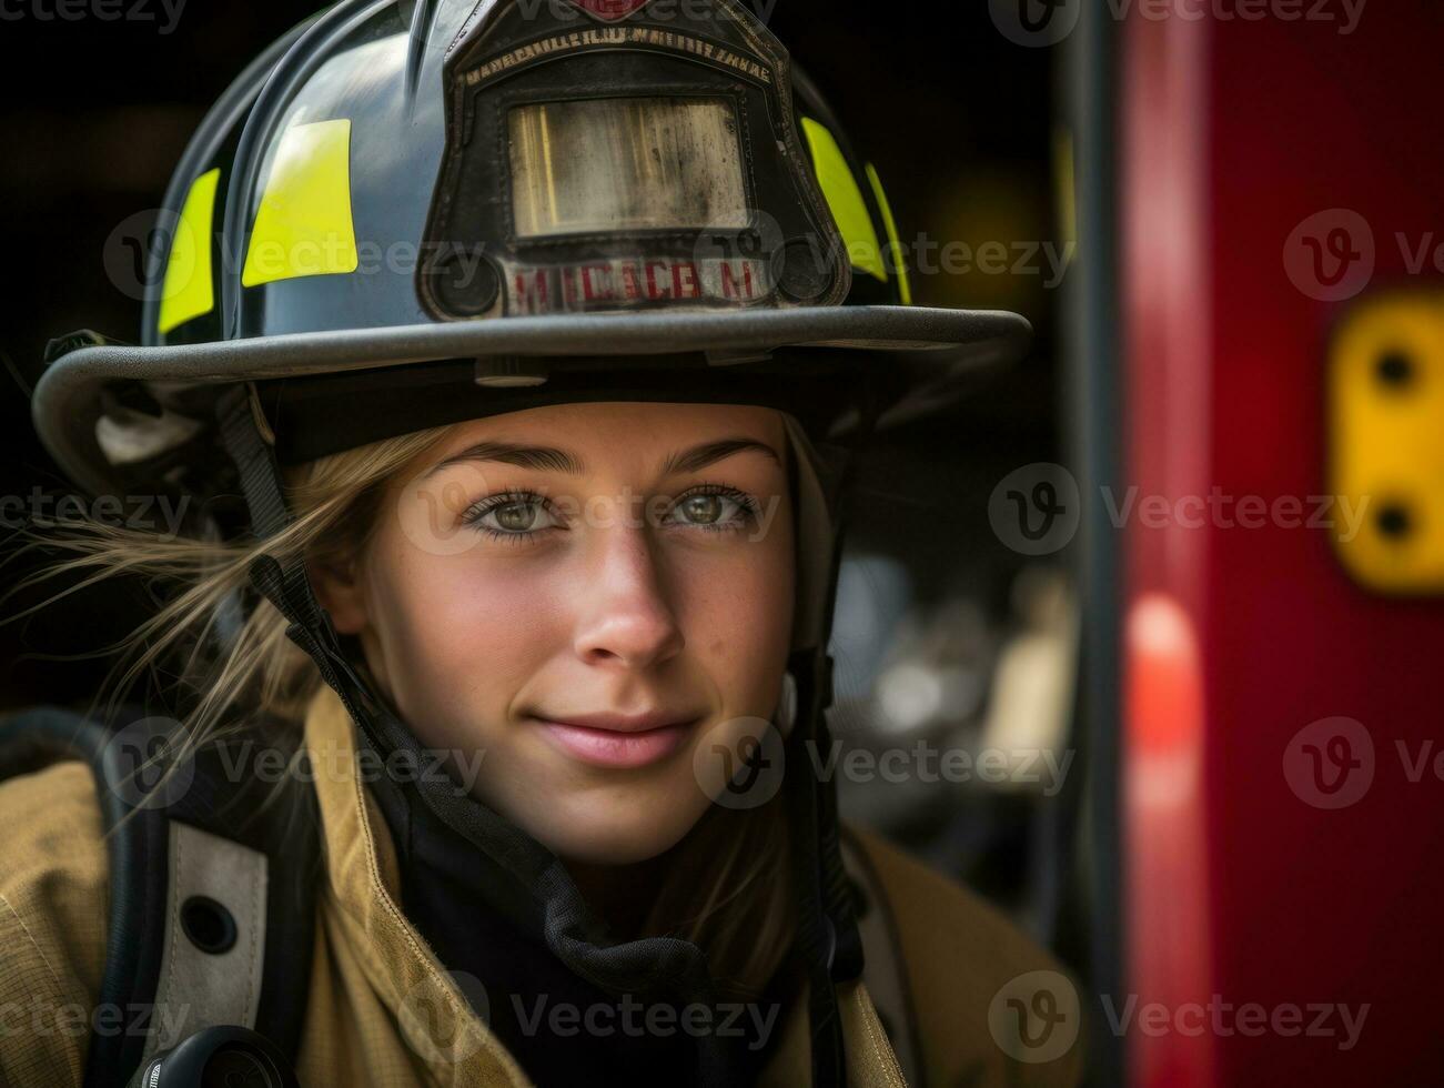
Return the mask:
{"type": "Polygon", "coordinates": [[[588,663],[658,665],[684,644],[666,585],[666,571],[645,529],[596,533],[598,556],[576,629],[576,653],[588,663]]]}

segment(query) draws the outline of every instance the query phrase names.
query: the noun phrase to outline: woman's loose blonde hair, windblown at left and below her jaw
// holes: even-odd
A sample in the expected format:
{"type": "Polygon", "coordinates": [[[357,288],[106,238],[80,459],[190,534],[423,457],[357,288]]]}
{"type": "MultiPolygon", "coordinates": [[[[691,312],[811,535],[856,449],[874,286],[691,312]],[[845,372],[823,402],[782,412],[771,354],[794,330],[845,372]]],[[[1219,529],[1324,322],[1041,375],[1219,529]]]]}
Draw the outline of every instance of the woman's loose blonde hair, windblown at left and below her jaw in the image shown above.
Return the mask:
{"type": "MultiPolygon", "coordinates": [[[[72,575],[78,581],[46,604],[118,575],[140,575],[169,590],[153,616],[116,646],[97,650],[97,656],[118,653],[103,689],[111,709],[146,676],[165,675],[191,695],[188,708],[178,711],[172,766],[261,718],[289,730],[295,769],[305,754],[306,707],[323,681],[310,656],[286,636],[286,618],[264,598],[225,633],[227,617],[248,592],[248,568],[264,555],[283,565],[360,555],[380,524],[387,488],[449,429],[388,438],[287,470],[292,522],[269,539],[168,539],[95,520],[51,522],[43,527],[58,532],[33,533],[32,546],[64,558],[12,592],[72,575]]],[[[266,803],[293,780],[282,777],[266,803]]],[[[781,793],[755,809],[712,805],[671,851],[644,933],[693,941],[708,954],[719,993],[755,998],[793,938],[790,850],[781,793]]]]}

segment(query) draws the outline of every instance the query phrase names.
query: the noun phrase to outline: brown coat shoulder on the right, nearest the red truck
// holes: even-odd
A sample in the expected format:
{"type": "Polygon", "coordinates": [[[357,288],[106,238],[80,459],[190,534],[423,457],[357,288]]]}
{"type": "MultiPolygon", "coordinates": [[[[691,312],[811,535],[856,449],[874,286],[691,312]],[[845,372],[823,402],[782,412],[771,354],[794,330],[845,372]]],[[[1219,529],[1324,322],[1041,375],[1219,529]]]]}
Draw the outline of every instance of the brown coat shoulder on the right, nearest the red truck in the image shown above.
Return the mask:
{"type": "MultiPolygon", "coordinates": [[[[868,909],[885,912],[901,959],[924,1084],[1080,1084],[1086,1037],[1082,990],[1057,959],[975,891],[877,832],[848,824],[843,834],[865,858],[869,881],[885,900],[868,909]],[[1060,1036],[1050,1033],[1044,1045],[1030,1048],[1019,1043],[1018,1029],[1009,1027],[1008,998],[1012,990],[1038,984],[1056,991],[1073,1016],[1071,1024],[1057,1024],[1060,1036]]],[[[874,955],[871,948],[868,955],[874,955]]]]}

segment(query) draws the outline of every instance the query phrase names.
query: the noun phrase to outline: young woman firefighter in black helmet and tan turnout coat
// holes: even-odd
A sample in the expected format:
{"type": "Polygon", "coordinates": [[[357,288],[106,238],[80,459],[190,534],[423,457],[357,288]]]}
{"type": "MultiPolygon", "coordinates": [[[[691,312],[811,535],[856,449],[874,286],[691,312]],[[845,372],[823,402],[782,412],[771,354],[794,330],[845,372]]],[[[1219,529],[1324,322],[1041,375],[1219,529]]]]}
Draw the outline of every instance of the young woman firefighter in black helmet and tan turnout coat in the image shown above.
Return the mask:
{"type": "Polygon", "coordinates": [[[175,720],[0,728],[0,1081],[1077,1081],[999,1001],[1047,957],[814,759],[851,458],[1027,324],[898,305],[745,4],[342,0],[165,207],[35,419],[188,501],[53,542],[169,587],[175,720]]]}

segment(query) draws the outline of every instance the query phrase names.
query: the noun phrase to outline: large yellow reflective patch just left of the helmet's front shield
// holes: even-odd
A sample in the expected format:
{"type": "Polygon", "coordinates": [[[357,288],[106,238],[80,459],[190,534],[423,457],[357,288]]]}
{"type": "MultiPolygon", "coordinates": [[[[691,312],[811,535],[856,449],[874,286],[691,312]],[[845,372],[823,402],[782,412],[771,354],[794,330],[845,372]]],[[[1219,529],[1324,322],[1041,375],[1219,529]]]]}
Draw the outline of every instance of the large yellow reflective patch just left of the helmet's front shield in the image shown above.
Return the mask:
{"type": "Polygon", "coordinates": [[[351,121],[286,130],[251,227],[241,283],[355,272],[351,220],[351,121]]]}

